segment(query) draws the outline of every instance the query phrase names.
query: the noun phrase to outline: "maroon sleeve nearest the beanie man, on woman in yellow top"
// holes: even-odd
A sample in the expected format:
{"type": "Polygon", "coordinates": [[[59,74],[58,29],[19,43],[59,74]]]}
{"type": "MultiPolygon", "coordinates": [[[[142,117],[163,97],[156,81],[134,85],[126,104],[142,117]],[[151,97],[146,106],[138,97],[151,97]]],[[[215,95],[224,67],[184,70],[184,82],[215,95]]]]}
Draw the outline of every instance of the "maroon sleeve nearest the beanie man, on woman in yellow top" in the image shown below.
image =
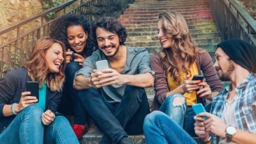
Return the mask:
{"type": "Polygon", "coordinates": [[[209,84],[212,92],[221,92],[223,87],[221,81],[216,76],[216,70],[213,67],[212,58],[207,51],[200,54],[200,69],[202,70],[207,84],[209,84]]]}

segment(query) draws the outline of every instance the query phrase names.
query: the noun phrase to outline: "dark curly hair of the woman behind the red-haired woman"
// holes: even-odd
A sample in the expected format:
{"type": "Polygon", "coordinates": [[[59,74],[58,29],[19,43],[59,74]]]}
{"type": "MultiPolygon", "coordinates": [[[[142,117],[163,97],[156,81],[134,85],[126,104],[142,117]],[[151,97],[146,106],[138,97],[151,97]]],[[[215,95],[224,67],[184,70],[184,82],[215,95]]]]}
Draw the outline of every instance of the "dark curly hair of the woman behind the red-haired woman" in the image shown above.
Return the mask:
{"type": "MultiPolygon", "coordinates": [[[[82,15],[67,14],[54,20],[50,26],[50,36],[56,40],[60,40],[66,46],[66,49],[70,49],[67,38],[67,28],[69,26],[83,26],[84,31],[90,35],[90,26],[86,19],[82,15]]],[[[86,40],[86,46],[84,47],[84,53],[86,56],[90,56],[95,51],[90,38],[86,40]]]]}

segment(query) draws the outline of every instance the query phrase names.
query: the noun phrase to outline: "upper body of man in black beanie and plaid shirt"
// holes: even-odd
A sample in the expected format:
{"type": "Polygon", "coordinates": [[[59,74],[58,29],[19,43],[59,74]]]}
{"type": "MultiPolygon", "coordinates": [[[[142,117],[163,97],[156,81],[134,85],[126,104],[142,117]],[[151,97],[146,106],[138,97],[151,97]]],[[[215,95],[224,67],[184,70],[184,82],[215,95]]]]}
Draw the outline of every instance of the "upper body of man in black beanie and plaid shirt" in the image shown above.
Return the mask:
{"type": "Polygon", "coordinates": [[[195,116],[195,132],[206,142],[256,143],[255,51],[237,39],[218,45],[214,67],[222,81],[231,83],[212,100],[211,113],[195,116]]]}

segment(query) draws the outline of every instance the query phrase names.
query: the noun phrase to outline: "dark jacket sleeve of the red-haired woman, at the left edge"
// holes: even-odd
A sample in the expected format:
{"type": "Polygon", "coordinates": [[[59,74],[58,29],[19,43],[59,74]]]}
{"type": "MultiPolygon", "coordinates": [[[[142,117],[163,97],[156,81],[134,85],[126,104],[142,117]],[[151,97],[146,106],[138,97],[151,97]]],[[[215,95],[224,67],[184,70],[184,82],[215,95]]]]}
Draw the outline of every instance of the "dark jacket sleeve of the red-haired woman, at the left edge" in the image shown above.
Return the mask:
{"type": "Polygon", "coordinates": [[[4,117],[4,105],[10,104],[10,100],[15,95],[17,84],[19,83],[17,79],[18,75],[15,71],[12,71],[0,79],[0,117],[4,117]]]}

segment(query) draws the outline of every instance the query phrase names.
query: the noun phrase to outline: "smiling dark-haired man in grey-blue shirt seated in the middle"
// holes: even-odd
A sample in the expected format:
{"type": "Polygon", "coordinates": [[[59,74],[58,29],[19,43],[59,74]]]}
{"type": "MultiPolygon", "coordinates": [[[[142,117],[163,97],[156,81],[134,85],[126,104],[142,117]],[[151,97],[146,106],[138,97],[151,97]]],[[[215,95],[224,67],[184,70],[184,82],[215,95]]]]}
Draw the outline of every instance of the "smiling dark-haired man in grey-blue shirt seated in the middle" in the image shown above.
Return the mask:
{"type": "Polygon", "coordinates": [[[154,84],[149,54],[127,47],[126,37],[118,20],[95,21],[92,39],[99,49],[86,58],[74,79],[79,99],[104,133],[100,143],[132,143],[128,134],[140,134],[149,113],[144,89],[154,84]],[[100,60],[108,60],[109,68],[96,70],[100,60]]]}

